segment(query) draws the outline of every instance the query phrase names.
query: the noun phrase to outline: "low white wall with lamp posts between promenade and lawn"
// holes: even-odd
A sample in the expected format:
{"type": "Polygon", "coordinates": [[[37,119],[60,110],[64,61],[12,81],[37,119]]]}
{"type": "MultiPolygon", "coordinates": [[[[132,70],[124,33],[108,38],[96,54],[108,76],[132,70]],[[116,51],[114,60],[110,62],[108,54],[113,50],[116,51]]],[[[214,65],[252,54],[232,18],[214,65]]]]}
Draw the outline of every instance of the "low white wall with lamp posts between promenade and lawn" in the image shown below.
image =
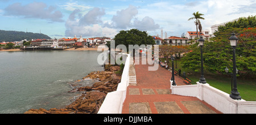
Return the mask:
{"type": "Polygon", "coordinates": [[[256,102],[233,100],[229,97],[228,93],[211,87],[209,84],[201,84],[197,82],[196,85],[171,86],[172,94],[197,97],[222,113],[256,113],[256,102]]]}

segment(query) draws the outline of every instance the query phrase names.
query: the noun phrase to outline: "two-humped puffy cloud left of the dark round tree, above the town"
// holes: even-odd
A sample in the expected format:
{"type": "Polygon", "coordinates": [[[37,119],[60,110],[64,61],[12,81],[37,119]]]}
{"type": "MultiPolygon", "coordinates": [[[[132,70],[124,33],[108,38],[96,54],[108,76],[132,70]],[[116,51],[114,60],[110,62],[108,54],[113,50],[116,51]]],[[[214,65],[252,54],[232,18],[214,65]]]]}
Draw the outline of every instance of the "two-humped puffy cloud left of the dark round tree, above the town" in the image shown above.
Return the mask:
{"type": "Polygon", "coordinates": [[[82,35],[83,37],[114,37],[117,34],[116,29],[101,26],[102,20],[100,18],[105,15],[103,9],[94,7],[87,14],[76,19],[79,12],[80,10],[74,10],[72,14],[69,15],[69,18],[65,23],[65,36],[82,35]]]}

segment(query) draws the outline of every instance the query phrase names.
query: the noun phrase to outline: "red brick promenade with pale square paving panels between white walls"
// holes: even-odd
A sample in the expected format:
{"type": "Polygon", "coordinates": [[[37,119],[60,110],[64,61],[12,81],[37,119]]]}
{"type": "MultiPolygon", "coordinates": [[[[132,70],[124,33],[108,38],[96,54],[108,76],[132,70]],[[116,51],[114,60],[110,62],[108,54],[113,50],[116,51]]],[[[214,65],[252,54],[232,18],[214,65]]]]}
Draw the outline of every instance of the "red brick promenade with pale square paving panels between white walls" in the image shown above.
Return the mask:
{"type": "MultiPolygon", "coordinates": [[[[127,87],[123,114],[215,114],[221,113],[196,97],[171,94],[171,72],[160,67],[148,71],[148,64],[137,64],[134,68],[136,83],[127,87]]],[[[134,71],[133,69],[133,71],[134,71]]],[[[131,69],[130,69],[131,70],[131,69]]],[[[175,76],[177,85],[185,85],[175,76]]]]}

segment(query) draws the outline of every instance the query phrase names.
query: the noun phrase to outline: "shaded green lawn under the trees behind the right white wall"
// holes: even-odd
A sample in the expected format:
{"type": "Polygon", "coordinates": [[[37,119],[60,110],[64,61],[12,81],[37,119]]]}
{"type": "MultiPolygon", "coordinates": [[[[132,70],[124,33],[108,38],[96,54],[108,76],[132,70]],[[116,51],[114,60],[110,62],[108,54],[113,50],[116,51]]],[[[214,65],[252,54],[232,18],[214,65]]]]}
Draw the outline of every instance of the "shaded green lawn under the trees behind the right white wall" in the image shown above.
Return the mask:
{"type": "MultiPolygon", "coordinates": [[[[164,62],[166,59],[161,58],[161,60],[164,62]]],[[[171,65],[171,60],[169,60],[170,63],[168,63],[168,66],[171,65]]],[[[192,80],[192,84],[196,84],[196,81],[199,81],[201,72],[194,72],[191,70],[187,70],[185,68],[181,67],[181,60],[177,59],[177,68],[175,67],[176,62],[174,61],[174,67],[175,70],[181,70],[182,72],[186,72],[186,76],[192,80]],[[188,75],[189,73],[189,75],[188,75]]],[[[207,83],[217,89],[222,90],[223,92],[226,92],[230,94],[231,92],[231,77],[222,75],[222,74],[213,74],[207,71],[204,71],[204,77],[207,80],[207,83]]],[[[256,82],[255,79],[248,79],[248,78],[241,78],[237,77],[237,89],[238,92],[240,92],[240,96],[243,100],[246,101],[256,101],[256,82]]]]}

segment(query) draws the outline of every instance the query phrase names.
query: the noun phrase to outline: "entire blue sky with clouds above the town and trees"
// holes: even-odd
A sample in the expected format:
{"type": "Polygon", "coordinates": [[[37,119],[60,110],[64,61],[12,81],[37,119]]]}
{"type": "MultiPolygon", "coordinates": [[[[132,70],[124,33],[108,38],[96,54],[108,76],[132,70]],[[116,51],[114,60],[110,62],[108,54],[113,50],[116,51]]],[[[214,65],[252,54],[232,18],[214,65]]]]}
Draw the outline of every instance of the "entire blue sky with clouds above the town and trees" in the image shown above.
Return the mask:
{"type": "Polygon", "coordinates": [[[256,0],[0,0],[0,29],[43,33],[51,38],[106,36],[139,29],[148,35],[180,37],[196,31],[193,12],[204,14],[201,25],[256,15],[256,0]]]}

